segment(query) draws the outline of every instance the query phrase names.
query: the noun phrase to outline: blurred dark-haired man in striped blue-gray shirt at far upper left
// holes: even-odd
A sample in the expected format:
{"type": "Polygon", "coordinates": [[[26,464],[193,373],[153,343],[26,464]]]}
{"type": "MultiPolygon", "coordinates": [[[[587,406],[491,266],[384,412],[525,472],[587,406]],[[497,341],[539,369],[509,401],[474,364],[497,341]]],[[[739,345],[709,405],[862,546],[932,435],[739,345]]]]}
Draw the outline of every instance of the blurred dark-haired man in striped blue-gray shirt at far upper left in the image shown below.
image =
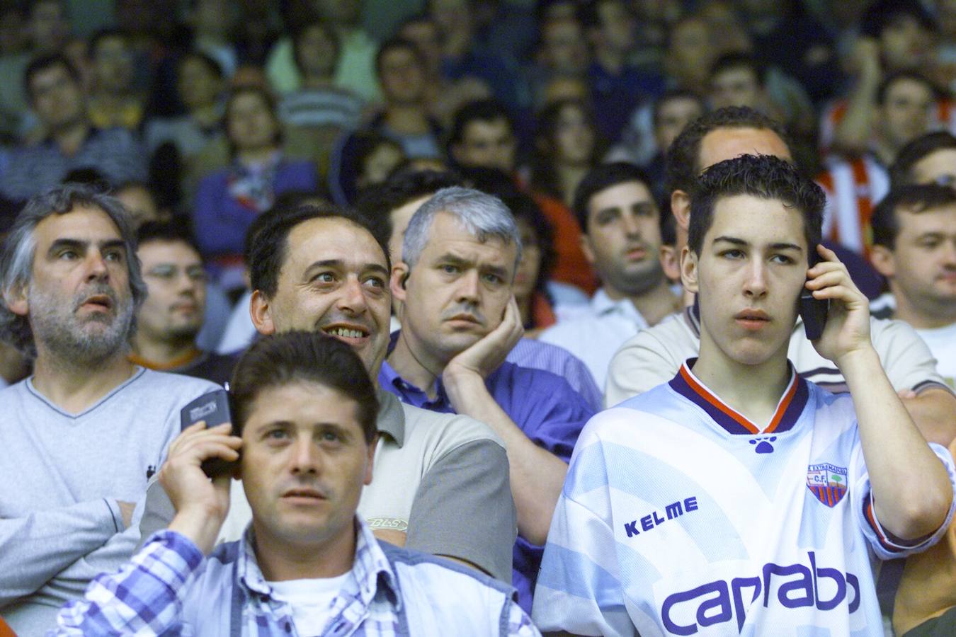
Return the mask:
{"type": "Polygon", "coordinates": [[[45,137],[18,148],[0,176],[0,190],[23,201],[57,183],[74,168],[94,168],[116,184],[145,180],[139,142],[121,128],[94,128],[76,69],[62,55],[35,58],[24,73],[24,86],[45,137]]]}

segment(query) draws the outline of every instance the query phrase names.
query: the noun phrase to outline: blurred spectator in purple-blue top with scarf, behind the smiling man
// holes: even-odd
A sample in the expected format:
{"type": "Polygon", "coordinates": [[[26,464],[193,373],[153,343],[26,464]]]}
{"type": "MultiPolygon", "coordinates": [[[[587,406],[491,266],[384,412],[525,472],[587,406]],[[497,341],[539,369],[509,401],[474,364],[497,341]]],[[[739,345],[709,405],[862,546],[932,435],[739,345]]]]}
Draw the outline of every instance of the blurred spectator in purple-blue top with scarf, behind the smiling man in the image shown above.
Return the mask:
{"type": "Polygon", "coordinates": [[[252,220],[272,207],[282,192],[315,190],[317,175],[309,161],[284,159],[272,97],[263,89],[232,92],[226,105],[226,132],[231,164],[200,182],[193,220],[196,241],[204,256],[213,260],[213,271],[228,268],[239,274],[221,280],[230,288],[242,285],[239,255],[252,220]]]}

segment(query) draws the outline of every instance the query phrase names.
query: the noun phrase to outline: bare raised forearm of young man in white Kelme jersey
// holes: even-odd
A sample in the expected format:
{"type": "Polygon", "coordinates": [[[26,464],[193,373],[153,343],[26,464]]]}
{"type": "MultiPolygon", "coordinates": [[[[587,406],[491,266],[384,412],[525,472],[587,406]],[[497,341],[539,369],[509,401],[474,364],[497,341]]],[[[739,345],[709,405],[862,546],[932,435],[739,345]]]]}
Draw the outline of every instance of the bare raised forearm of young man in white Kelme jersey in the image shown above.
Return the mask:
{"type": "Polygon", "coordinates": [[[882,372],[875,350],[846,355],[839,369],[853,396],[880,524],[902,540],[931,534],[953,498],[945,467],[882,372]]]}

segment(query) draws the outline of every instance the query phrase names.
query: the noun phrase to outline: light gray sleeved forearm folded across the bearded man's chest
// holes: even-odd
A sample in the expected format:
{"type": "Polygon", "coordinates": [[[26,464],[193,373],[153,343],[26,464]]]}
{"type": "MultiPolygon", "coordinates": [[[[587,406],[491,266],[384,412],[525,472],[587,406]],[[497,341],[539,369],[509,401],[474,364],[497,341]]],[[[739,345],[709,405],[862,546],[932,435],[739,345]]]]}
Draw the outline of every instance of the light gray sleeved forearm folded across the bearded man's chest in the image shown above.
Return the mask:
{"type": "Polygon", "coordinates": [[[0,520],[0,609],[123,530],[116,502],[95,499],[0,520]]]}

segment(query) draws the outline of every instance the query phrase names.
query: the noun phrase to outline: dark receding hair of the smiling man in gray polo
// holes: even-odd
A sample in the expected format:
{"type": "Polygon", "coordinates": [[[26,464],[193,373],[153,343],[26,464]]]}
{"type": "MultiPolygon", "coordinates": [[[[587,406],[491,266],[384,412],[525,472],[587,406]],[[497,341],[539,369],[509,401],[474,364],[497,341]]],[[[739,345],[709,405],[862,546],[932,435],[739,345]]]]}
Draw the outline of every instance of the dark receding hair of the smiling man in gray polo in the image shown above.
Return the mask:
{"type": "Polygon", "coordinates": [[[388,258],[388,235],[382,232],[380,225],[371,223],[364,215],[352,208],[325,203],[322,205],[304,204],[294,208],[273,209],[262,215],[262,223],[253,233],[250,231],[249,258],[250,283],[253,290],[259,290],[272,298],[279,287],[279,273],[286,262],[289,250],[289,233],[299,223],[313,219],[343,219],[355,223],[372,235],[379,244],[385,257],[385,266],[391,270],[388,258]]]}

